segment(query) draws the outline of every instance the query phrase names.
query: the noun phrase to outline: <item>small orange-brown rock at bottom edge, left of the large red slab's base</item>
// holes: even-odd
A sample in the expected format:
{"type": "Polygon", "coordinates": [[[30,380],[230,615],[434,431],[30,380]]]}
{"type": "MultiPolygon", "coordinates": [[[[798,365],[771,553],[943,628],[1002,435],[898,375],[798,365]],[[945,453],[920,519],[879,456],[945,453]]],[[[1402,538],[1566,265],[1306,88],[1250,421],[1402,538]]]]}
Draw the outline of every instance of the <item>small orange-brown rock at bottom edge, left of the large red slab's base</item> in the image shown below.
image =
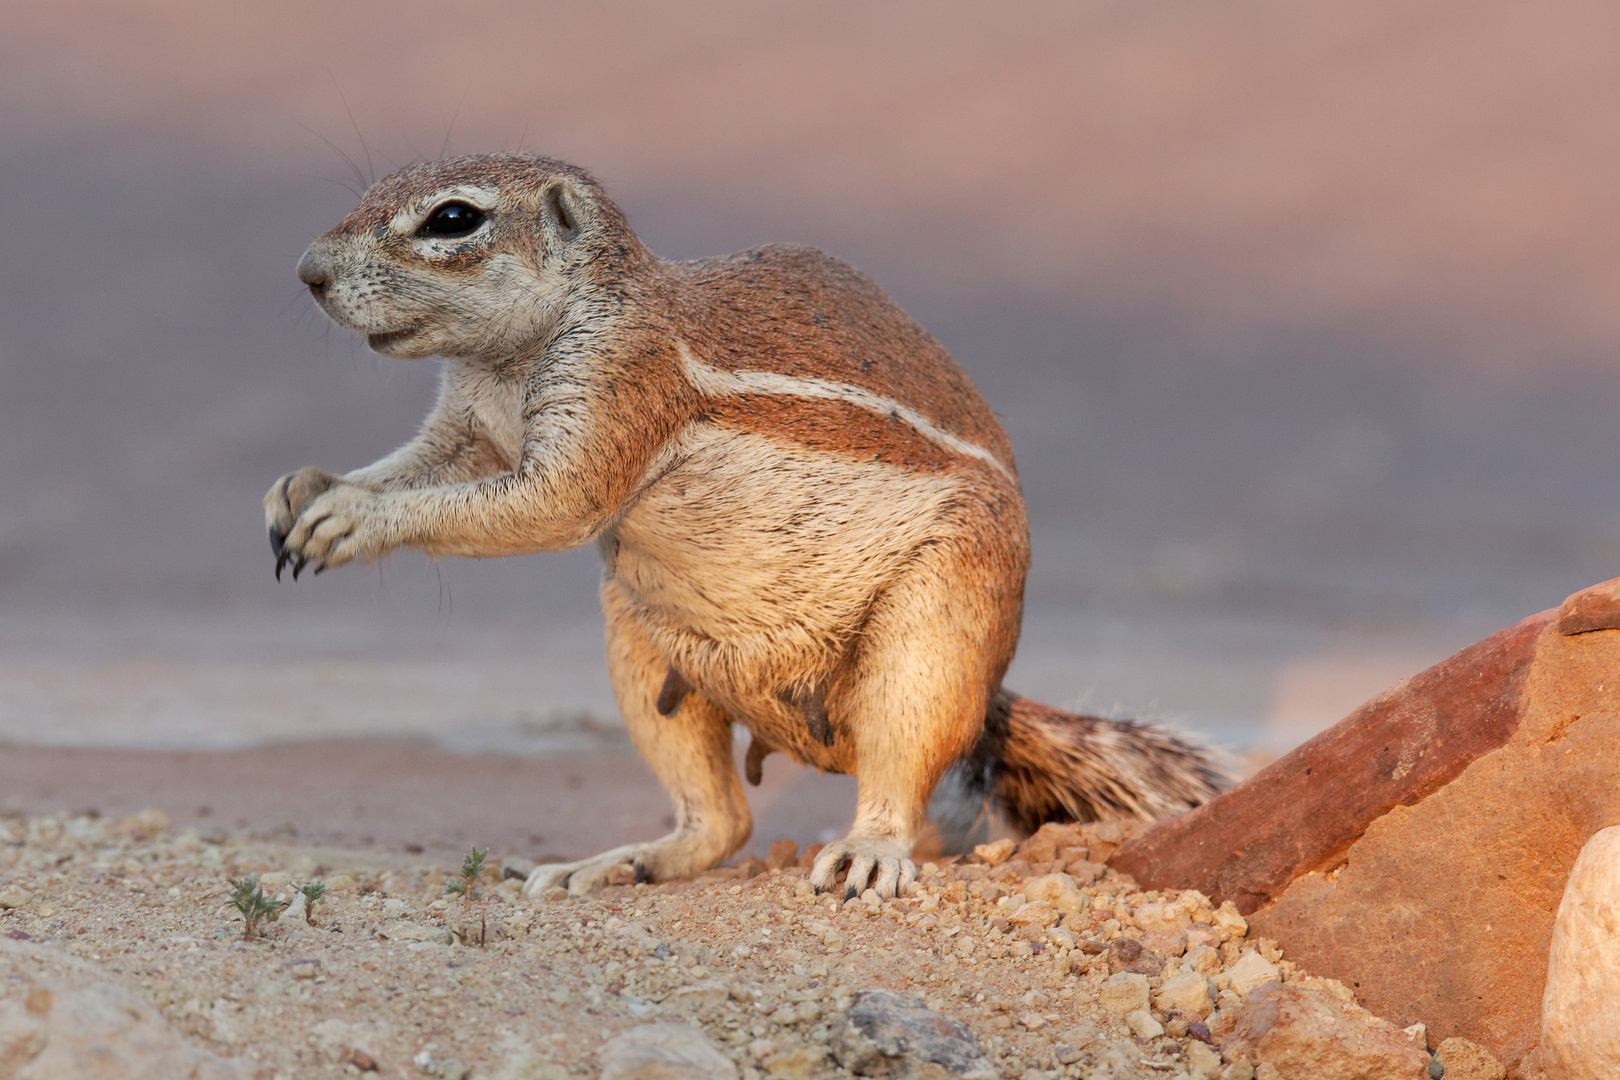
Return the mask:
{"type": "Polygon", "coordinates": [[[1249,994],[1221,1057],[1311,1080],[1426,1080],[1429,1052],[1333,994],[1267,983],[1249,994]]]}

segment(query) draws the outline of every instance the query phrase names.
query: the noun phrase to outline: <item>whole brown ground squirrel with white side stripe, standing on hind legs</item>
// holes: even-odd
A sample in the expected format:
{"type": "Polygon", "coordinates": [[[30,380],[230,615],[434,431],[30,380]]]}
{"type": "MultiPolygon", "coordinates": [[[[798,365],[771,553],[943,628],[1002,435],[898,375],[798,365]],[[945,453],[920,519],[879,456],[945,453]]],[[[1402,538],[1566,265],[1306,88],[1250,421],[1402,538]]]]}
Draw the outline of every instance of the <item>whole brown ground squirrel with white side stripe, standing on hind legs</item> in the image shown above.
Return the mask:
{"type": "Polygon", "coordinates": [[[951,356],[872,280],[771,244],[667,262],[583,170],[496,154],[403,168],[298,277],[397,358],[447,358],[421,432],[374,465],[305,468],[264,499],[275,570],[400,546],[517,555],[595,541],[608,667],[676,827],[526,891],[620,865],[674,879],[752,832],[748,772],[781,751],[859,780],[816,889],[894,895],[953,767],[1011,818],[1160,818],[1221,785],[1166,732],[1001,688],[1029,565],[1013,445],[951,356]]]}

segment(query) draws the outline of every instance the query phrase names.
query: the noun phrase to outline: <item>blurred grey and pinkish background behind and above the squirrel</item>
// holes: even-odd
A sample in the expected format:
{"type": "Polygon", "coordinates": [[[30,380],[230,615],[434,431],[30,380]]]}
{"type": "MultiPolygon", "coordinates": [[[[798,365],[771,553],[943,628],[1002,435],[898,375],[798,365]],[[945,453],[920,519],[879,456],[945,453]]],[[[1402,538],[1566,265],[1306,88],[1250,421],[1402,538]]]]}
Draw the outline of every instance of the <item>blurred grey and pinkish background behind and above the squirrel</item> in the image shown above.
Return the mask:
{"type": "Polygon", "coordinates": [[[1034,523],[1014,687],[1285,746],[1620,573],[1617,44],[1602,0],[11,3],[0,738],[611,729],[590,552],[277,585],[261,526],[436,377],[298,254],[525,149],[944,342],[1034,523]]]}

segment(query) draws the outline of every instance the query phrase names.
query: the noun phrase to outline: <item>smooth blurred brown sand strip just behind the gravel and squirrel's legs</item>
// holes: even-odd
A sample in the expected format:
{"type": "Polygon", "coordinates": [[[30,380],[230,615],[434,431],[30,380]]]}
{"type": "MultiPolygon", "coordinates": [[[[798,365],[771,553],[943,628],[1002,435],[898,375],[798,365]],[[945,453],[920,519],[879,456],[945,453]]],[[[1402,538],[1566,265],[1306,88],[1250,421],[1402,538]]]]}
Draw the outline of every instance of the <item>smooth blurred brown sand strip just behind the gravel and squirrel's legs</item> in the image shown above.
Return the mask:
{"type": "MultiPolygon", "coordinates": [[[[739,751],[740,764],[740,751],[739,751]]],[[[755,839],[842,836],[855,784],[773,755],[748,789],[755,839]]],[[[228,751],[78,750],[0,743],[0,813],[162,810],[202,834],[249,832],[458,861],[468,847],[585,857],[663,836],[669,798],[625,745],[549,758],[463,755],[429,742],[322,740],[228,751]]]]}

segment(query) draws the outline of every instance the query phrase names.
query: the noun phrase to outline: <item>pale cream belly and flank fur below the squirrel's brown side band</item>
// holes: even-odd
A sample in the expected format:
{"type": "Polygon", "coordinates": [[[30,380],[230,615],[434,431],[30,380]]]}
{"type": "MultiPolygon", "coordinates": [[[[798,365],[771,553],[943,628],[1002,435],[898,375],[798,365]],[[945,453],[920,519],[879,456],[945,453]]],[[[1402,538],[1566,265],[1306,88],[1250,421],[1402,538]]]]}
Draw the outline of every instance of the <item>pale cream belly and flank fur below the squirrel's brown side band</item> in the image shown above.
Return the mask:
{"type": "Polygon", "coordinates": [[[956,481],[705,427],[676,460],[604,534],[608,572],[698,691],[839,767],[846,740],[807,742],[781,698],[836,672],[872,601],[938,534],[956,481]]]}

